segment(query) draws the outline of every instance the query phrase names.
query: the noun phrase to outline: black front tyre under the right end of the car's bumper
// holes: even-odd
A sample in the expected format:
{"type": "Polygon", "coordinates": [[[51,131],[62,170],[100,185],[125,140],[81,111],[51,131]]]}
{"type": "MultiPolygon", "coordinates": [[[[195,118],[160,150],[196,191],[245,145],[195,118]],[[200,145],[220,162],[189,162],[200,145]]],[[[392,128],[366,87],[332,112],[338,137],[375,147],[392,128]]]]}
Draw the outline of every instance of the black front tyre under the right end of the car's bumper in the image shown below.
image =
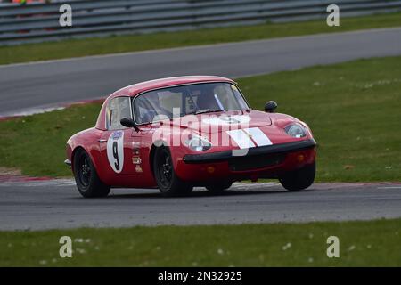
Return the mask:
{"type": "Polygon", "coordinates": [[[307,189],[315,180],[316,163],[291,171],[279,178],[282,187],[288,191],[307,189]]]}

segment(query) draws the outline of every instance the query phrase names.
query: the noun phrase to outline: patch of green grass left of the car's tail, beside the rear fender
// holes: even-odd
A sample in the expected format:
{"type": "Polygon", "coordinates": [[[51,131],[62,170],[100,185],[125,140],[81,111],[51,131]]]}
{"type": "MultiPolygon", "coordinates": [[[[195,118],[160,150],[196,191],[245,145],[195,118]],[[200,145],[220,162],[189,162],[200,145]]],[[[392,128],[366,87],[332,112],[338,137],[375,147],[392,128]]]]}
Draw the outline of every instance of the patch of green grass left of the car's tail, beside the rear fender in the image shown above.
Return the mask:
{"type": "Polygon", "coordinates": [[[100,103],[0,122],[0,167],[22,170],[25,175],[67,176],[66,142],[72,134],[94,126],[100,103]]]}

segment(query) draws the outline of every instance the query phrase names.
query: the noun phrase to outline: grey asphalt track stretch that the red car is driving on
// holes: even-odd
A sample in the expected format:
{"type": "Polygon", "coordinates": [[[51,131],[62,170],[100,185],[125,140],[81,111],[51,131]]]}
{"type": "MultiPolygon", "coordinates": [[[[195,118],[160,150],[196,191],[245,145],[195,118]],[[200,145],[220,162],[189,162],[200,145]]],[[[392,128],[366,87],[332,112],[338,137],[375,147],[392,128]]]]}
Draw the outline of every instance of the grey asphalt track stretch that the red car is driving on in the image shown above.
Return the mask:
{"type": "Polygon", "coordinates": [[[315,184],[285,191],[275,183],[235,183],[212,196],[163,198],[158,190],[113,190],[104,199],[84,199],[74,182],[0,183],[0,230],[78,226],[242,224],[365,220],[401,216],[401,183],[315,184]]]}

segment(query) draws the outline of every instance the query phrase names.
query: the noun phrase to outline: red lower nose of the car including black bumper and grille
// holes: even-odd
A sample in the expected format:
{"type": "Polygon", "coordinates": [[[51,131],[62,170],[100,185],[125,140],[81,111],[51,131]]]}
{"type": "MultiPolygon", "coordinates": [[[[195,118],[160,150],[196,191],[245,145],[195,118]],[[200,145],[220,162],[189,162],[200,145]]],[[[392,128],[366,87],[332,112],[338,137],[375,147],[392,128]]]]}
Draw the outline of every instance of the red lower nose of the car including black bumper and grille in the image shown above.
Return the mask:
{"type": "Polygon", "coordinates": [[[187,154],[177,161],[176,174],[197,185],[221,179],[277,178],[314,163],[315,146],[311,139],[251,148],[243,156],[233,156],[233,151],[187,154]]]}

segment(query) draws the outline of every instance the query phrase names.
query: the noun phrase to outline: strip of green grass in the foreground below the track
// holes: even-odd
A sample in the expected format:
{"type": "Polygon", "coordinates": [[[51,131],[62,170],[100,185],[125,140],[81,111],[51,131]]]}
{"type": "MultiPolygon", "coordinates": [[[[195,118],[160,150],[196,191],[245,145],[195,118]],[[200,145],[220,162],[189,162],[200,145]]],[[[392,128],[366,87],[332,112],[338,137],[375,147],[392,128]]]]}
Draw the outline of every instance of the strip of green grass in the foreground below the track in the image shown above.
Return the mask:
{"type": "Polygon", "coordinates": [[[0,232],[0,266],[401,266],[400,234],[401,219],[0,232]],[[72,258],[59,256],[64,235],[72,258]]]}

